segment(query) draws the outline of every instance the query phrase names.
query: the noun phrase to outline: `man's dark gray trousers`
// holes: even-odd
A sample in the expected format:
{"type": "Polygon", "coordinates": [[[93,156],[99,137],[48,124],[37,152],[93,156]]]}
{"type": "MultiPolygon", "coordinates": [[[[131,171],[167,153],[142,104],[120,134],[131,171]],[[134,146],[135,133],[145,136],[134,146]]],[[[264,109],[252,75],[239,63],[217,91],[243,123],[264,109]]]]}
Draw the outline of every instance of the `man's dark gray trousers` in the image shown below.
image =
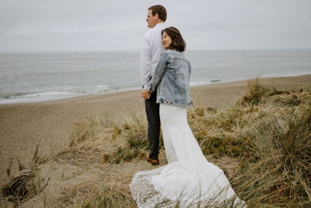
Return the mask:
{"type": "Polygon", "coordinates": [[[160,104],[156,103],[157,91],[151,93],[150,99],[145,100],[145,109],[148,121],[148,142],[149,157],[153,160],[158,159],[159,155],[159,137],[160,137],[160,104]]]}

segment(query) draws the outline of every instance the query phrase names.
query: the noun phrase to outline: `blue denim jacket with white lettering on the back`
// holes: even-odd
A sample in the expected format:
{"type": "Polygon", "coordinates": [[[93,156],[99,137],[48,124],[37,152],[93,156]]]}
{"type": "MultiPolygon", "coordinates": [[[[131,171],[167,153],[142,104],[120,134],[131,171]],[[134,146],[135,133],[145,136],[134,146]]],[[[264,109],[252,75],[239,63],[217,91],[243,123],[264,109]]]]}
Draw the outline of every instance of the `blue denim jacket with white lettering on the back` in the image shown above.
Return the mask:
{"type": "Polygon", "coordinates": [[[186,54],[166,50],[162,52],[146,89],[149,92],[157,90],[156,103],[188,107],[193,104],[189,91],[190,74],[191,65],[186,54]]]}

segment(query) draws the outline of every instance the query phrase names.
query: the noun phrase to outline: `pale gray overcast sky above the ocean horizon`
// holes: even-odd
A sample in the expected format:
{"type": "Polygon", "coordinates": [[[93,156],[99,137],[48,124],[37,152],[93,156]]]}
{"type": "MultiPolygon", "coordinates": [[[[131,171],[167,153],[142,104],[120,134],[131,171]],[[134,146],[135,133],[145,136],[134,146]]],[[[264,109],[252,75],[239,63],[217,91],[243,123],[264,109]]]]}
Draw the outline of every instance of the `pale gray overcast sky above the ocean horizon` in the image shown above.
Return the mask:
{"type": "Polygon", "coordinates": [[[0,0],[0,52],[139,50],[155,4],[187,50],[311,49],[310,0],[0,0]]]}

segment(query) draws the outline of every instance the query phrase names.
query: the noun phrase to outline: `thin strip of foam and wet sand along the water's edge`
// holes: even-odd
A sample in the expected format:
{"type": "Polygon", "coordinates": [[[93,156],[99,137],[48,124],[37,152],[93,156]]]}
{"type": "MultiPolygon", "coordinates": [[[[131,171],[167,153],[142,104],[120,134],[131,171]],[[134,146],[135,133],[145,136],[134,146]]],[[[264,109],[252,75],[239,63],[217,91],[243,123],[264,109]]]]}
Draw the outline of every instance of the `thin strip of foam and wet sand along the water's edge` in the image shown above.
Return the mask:
{"type": "MultiPolygon", "coordinates": [[[[309,74],[301,74],[301,75],[282,75],[282,76],[272,76],[272,77],[259,77],[259,79],[261,78],[268,78],[268,79],[274,79],[274,78],[282,78],[282,77],[296,77],[296,76],[304,76],[304,75],[311,75],[311,73],[309,74]]],[[[254,78],[251,78],[254,79],[254,78]]],[[[248,81],[251,79],[244,79],[244,80],[223,80],[223,81],[209,81],[209,82],[204,82],[204,84],[195,84],[195,85],[191,85],[190,84],[190,88],[192,87],[202,87],[205,85],[214,85],[214,84],[221,84],[221,83],[234,83],[234,82],[240,82],[240,81],[248,81]]],[[[89,94],[82,94],[82,95],[74,95],[74,96],[70,96],[70,97],[66,97],[66,98],[57,98],[57,99],[48,99],[48,100],[35,100],[32,102],[6,102],[6,103],[0,103],[0,106],[3,105],[23,105],[23,104],[52,104],[52,103],[58,103],[58,102],[66,102],[66,101],[71,101],[71,100],[79,100],[79,99],[88,99],[88,98],[92,98],[95,96],[100,96],[100,95],[105,95],[105,94],[110,94],[110,93],[118,93],[118,92],[128,92],[128,91],[136,91],[136,90],[140,90],[139,87],[129,87],[126,89],[118,89],[118,90],[111,90],[111,91],[106,91],[106,92],[99,92],[99,93],[89,93],[89,94]]]]}

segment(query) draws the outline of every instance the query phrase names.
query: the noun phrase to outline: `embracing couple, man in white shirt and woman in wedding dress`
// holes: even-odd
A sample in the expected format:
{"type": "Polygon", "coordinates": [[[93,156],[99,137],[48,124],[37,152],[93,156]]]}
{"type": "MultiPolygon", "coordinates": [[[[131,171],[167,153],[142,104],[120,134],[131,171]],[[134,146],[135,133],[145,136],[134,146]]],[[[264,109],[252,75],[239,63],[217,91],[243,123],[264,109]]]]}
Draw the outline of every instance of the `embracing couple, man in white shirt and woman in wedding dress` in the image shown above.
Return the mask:
{"type": "Polygon", "coordinates": [[[165,7],[148,8],[146,21],[152,29],[143,36],[140,72],[148,120],[147,161],[159,164],[161,123],[168,164],[137,172],[130,185],[132,197],[138,207],[223,206],[230,199],[234,202],[228,206],[244,207],[223,171],[207,162],[188,125],[191,65],[180,32],[165,20],[165,7]]]}

